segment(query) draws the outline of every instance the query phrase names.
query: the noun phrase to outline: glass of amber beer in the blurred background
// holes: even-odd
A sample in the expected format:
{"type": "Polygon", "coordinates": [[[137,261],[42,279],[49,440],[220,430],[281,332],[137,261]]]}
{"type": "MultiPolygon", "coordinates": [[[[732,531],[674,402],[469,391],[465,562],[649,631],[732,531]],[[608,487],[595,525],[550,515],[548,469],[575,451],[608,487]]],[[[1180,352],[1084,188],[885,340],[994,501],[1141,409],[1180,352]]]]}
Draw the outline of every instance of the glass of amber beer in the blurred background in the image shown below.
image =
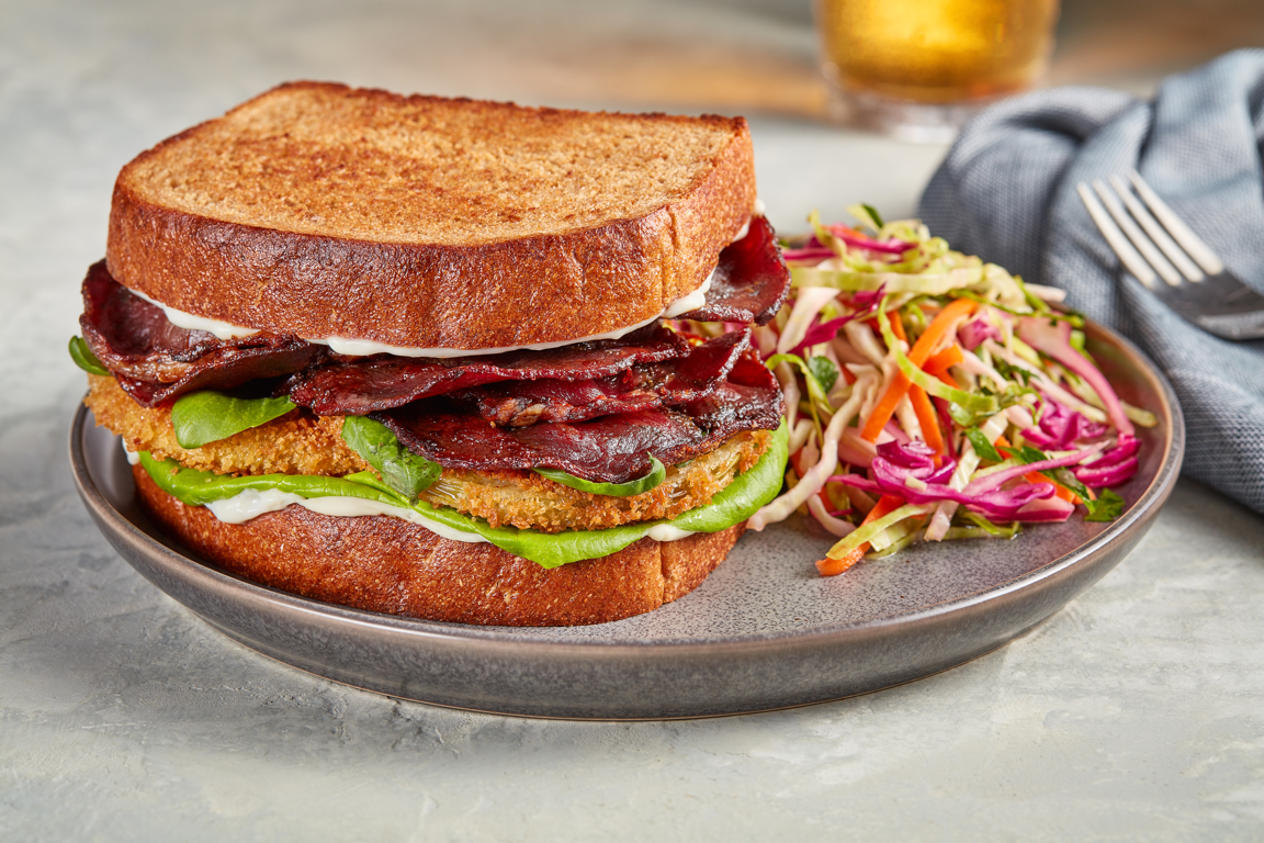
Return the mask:
{"type": "Polygon", "coordinates": [[[1048,63],[1058,0],[817,0],[827,77],[856,123],[945,139],[1048,63]]]}

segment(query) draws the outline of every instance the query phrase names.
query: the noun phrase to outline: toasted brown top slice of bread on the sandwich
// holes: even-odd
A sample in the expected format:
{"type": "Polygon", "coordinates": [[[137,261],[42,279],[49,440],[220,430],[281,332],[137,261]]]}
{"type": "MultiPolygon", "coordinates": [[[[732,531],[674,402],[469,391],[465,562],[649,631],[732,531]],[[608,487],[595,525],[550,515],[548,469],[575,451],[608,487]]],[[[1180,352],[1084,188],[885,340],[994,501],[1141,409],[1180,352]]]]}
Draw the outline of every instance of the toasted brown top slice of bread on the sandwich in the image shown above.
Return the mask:
{"type": "Polygon", "coordinates": [[[753,203],[741,118],[296,82],[124,167],[106,260],[243,327],[475,350],[652,318],[753,203]]]}

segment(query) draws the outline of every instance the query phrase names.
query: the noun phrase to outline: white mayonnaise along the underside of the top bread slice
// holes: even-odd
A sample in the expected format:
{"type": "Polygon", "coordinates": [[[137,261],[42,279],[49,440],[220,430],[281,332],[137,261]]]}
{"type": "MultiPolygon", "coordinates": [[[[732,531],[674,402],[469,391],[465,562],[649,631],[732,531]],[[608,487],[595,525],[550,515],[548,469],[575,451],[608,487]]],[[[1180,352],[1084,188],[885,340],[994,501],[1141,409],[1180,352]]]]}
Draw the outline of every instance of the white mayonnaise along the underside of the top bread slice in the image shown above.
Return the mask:
{"type": "MultiPolygon", "coordinates": [[[[763,202],[755,200],[755,215],[763,216],[763,202]]],[[[747,220],[742,229],[733,238],[733,241],[738,241],[747,235],[751,230],[751,221],[747,220]]],[[[676,301],[667,305],[667,307],[659,316],[652,316],[643,322],[637,322],[636,325],[628,325],[627,327],[619,327],[613,331],[607,331],[605,334],[593,334],[590,336],[581,336],[575,340],[560,340],[556,343],[533,343],[531,345],[504,345],[493,349],[421,349],[411,348],[404,345],[388,345],[386,343],[374,343],[373,340],[354,340],[344,336],[326,336],[326,337],[301,337],[307,343],[316,343],[319,345],[327,345],[331,351],[337,354],[345,354],[348,356],[368,356],[370,354],[393,354],[401,358],[464,358],[475,356],[482,354],[503,354],[506,351],[544,351],[546,349],[556,349],[564,345],[570,345],[571,343],[590,343],[593,340],[617,340],[621,336],[631,334],[632,331],[645,327],[646,325],[655,322],[660,318],[675,318],[681,313],[688,313],[689,311],[698,310],[703,306],[707,300],[707,291],[710,289],[712,278],[715,277],[715,272],[707,276],[707,281],[694,292],[678,298],[676,301]]],[[[130,287],[128,289],[131,289],[130,287]]],[[[212,334],[220,340],[231,340],[239,336],[250,336],[252,334],[258,334],[258,329],[241,327],[240,325],[231,325],[229,322],[222,322],[216,318],[210,318],[206,316],[196,316],[193,313],[186,313],[185,311],[176,310],[163,305],[159,301],[154,301],[149,296],[142,292],[131,289],[133,293],[145,300],[155,307],[161,307],[163,313],[167,315],[167,320],[176,327],[183,327],[190,331],[206,331],[212,334]]]]}

